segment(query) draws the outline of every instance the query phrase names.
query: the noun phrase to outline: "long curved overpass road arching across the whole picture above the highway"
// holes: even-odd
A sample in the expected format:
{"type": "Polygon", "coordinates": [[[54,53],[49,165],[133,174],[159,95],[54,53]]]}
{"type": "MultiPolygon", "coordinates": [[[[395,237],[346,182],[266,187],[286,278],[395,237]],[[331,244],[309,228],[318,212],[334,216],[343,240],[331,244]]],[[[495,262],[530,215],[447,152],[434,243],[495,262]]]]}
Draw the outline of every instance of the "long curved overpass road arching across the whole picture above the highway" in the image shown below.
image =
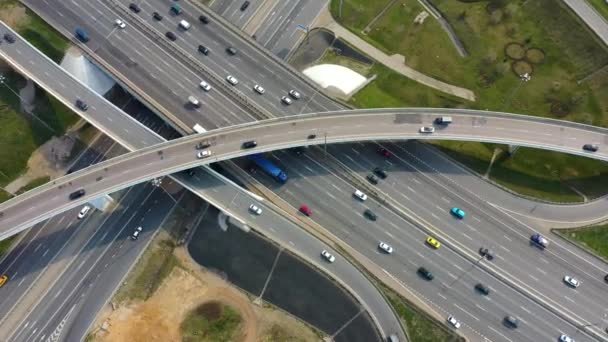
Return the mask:
{"type": "Polygon", "coordinates": [[[484,141],[529,146],[608,160],[608,130],[571,122],[521,115],[448,109],[378,109],[340,111],[291,116],[218,129],[133,152],[68,175],[31,190],[0,205],[0,237],[13,235],[56,213],[155,177],[195,166],[251,153],[361,140],[444,139],[484,141]],[[469,114],[460,114],[460,113],[469,114]],[[435,133],[420,133],[432,126],[438,115],[452,115],[449,126],[437,126],[435,133]],[[314,139],[309,139],[310,135],[314,139]],[[256,139],[258,147],[242,149],[242,143],[256,139]],[[195,145],[209,141],[210,158],[197,159],[195,145]],[[586,153],[583,143],[599,145],[586,153]],[[84,189],[86,195],[70,201],[68,195],[84,189]]]}

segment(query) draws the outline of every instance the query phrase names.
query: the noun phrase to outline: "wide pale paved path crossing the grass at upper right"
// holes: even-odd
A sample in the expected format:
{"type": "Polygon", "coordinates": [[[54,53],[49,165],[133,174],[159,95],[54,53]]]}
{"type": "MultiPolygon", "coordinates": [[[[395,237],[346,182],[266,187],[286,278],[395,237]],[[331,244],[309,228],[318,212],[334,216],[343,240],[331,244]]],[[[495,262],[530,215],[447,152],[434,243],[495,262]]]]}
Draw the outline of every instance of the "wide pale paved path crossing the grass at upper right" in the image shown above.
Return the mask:
{"type": "Polygon", "coordinates": [[[359,36],[338,24],[331,16],[331,13],[329,13],[329,8],[324,10],[324,13],[319,16],[313,25],[314,27],[324,27],[331,30],[336,35],[336,38],[339,37],[344,39],[349,44],[363,51],[371,58],[375,59],[379,63],[382,63],[387,68],[398,72],[407,78],[444,93],[454,95],[465,100],[475,101],[475,93],[473,93],[471,90],[436,80],[419,71],[416,71],[405,65],[405,57],[403,55],[395,54],[389,56],[375,46],[359,38],[359,36]]]}

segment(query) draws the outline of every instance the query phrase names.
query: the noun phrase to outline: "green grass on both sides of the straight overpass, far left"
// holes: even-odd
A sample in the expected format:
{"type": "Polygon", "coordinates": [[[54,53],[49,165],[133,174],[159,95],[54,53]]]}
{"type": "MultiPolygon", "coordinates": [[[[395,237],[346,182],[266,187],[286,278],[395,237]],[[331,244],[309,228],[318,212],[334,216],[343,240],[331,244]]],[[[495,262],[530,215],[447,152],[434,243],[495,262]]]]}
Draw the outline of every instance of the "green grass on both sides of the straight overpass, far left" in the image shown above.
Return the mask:
{"type": "MultiPolygon", "coordinates": [[[[67,39],[31,11],[16,11],[17,6],[21,5],[15,1],[6,1],[0,11],[20,13],[20,19],[13,23],[13,28],[53,60],[59,61],[68,46],[67,39]]],[[[22,113],[16,93],[25,86],[25,80],[14,72],[5,72],[3,76],[6,79],[0,86],[0,186],[23,173],[28,158],[36,148],[52,136],[62,135],[78,119],[63,104],[40,89],[36,90],[33,114],[46,125],[31,115],[22,113]]]]}

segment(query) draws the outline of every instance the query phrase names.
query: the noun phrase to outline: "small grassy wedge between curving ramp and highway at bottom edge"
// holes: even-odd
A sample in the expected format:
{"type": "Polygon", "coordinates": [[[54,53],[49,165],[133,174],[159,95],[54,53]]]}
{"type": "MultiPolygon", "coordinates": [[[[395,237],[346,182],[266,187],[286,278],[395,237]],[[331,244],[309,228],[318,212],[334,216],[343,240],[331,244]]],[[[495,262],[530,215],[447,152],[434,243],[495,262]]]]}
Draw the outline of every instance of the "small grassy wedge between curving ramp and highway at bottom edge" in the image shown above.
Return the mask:
{"type": "Polygon", "coordinates": [[[464,339],[452,333],[447,327],[427,316],[426,313],[401,298],[392,290],[381,285],[389,302],[405,322],[411,342],[463,342],[464,339]]]}

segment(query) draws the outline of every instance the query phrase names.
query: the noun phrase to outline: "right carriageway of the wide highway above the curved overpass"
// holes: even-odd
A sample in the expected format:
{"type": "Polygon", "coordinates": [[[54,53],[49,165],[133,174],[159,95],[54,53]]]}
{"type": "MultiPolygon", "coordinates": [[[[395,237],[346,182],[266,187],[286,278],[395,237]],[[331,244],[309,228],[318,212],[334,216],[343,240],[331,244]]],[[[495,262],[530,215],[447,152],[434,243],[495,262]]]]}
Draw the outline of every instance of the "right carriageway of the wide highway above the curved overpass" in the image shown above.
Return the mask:
{"type": "MultiPolygon", "coordinates": [[[[125,5],[127,5],[128,2],[129,1],[126,0],[124,2],[125,5]]],[[[150,13],[155,9],[159,10],[159,5],[151,3],[146,3],[141,7],[143,11],[150,13]]],[[[199,22],[198,16],[192,15],[186,11],[182,12],[179,16],[171,15],[168,9],[164,12],[166,12],[166,19],[163,19],[160,22],[154,20],[151,16],[142,16],[142,18],[145,18],[152,26],[161,26],[163,27],[163,31],[175,32],[178,37],[183,38],[178,38],[174,44],[180,46],[187,54],[197,58],[200,63],[207,65],[210,70],[217,73],[218,78],[223,80],[228,75],[236,77],[239,80],[239,85],[234,87],[234,91],[243,93],[254,103],[257,103],[272,113],[281,113],[280,115],[285,115],[287,113],[296,114],[299,112],[300,108],[298,108],[296,103],[289,107],[283,107],[281,105],[281,96],[287,95],[288,91],[292,89],[289,88],[287,84],[281,85],[283,77],[276,74],[273,70],[268,69],[266,66],[260,65],[259,62],[256,63],[256,61],[253,60],[248,61],[248,56],[241,51],[238,51],[234,56],[230,56],[226,53],[225,49],[229,46],[233,46],[233,43],[228,41],[224,36],[215,35],[214,31],[210,29],[212,26],[211,23],[208,25],[202,24],[199,22]],[[187,31],[179,29],[178,23],[181,20],[187,20],[191,23],[192,27],[187,31]],[[209,36],[209,38],[202,39],[204,36],[209,36]],[[211,50],[208,56],[197,52],[199,44],[203,44],[211,50]],[[248,65],[255,65],[255,68],[248,67],[248,65]],[[264,70],[266,72],[264,72],[264,70]],[[253,90],[255,84],[260,84],[266,89],[264,96],[259,96],[259,94],[255,93],[253,90]]],[[[162,33],[159,32],[159,34],[162,33]]]]}

